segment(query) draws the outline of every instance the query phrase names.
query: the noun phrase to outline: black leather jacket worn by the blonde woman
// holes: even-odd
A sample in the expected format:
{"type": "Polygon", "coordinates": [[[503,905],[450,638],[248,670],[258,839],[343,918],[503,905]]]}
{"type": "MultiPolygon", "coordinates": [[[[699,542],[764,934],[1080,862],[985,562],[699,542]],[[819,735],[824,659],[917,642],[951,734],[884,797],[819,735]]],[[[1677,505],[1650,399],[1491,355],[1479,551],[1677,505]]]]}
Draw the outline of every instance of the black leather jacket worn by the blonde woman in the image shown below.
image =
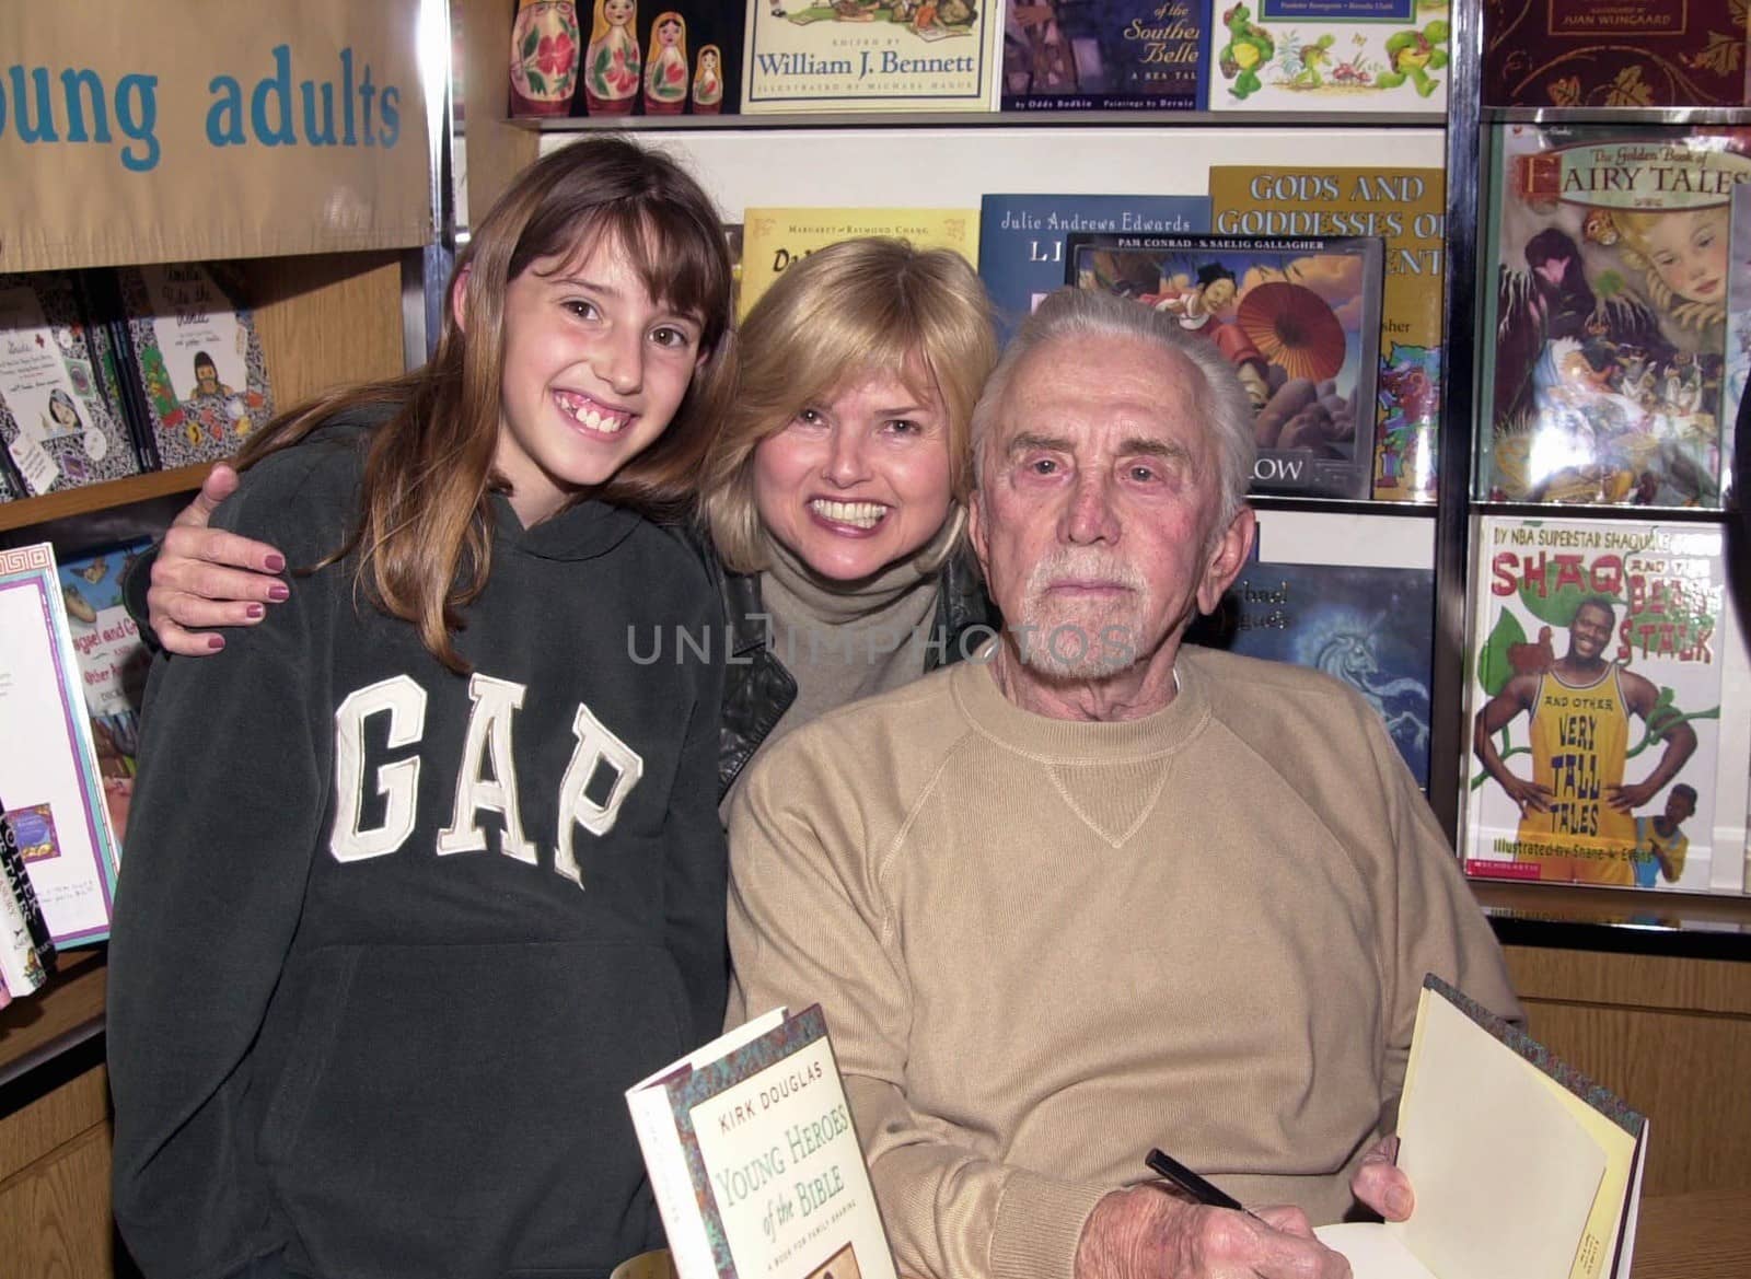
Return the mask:
{"type": "MultiPolygon", "coordinates": [[[[720,569],[720,576],[732,647],[723,681],[723,719],[718,724],[718,800],[728,794],[735,775],[797,700],[795,675],[767,647],[760,574],[720,569]]],[[[942,565],[940,577],[935,644],[925,654],[925,670],[968,656],[1000,625],[996,605],[986,595],[972,556],[951,556],[942,565]]]]}

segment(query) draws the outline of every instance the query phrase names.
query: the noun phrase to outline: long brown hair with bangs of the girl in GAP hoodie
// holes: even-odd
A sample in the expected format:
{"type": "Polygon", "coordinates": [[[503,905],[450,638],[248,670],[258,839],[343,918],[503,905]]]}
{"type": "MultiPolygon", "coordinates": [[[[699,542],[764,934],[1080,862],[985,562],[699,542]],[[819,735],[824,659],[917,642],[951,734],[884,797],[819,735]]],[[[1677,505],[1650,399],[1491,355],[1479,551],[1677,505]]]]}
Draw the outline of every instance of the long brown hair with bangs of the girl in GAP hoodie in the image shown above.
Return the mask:
{"type": "Polygon", "coordinates": [[[490,493],[504,373],[504,290],[541,259],[597,243],[627,254],[646,292],[700,320],[700,364],[674,420],[601,488],[578,493],[651,518],[676,518],[734,395],[730,261],[711,199],[667,156],[590,138],[539,159],[482,219],[445,290],[438,350],[399,378],[322,395],[270,423],[238,453],[247,467],[296,444],[336,413],[390,406],[371,436],[357,527],[324,563],[354,551],[359,583],[459,674],[452,632],[492,569],[490,493]],[[452,301],[461,289],[464,322],[452,301]]]}

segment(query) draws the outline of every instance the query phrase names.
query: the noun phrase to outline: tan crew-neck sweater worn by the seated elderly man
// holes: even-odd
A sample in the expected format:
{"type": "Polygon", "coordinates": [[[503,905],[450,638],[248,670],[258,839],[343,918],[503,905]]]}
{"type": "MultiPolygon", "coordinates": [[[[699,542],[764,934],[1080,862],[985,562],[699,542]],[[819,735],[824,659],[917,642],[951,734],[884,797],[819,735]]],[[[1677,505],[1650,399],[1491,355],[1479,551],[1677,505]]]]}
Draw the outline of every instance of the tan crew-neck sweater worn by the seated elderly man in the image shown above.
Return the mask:
{"type": "Polygon", "coordinates": [[[1091,724],[951,667],[762,752],[734,805],[730,1018],[823,1004],[904,1272],[1068,1277],[1150,1146],[1333,1221],[1422,975],[1520,1011],[1361,698],[1199,649],[1178,675],[1091,724]]]}

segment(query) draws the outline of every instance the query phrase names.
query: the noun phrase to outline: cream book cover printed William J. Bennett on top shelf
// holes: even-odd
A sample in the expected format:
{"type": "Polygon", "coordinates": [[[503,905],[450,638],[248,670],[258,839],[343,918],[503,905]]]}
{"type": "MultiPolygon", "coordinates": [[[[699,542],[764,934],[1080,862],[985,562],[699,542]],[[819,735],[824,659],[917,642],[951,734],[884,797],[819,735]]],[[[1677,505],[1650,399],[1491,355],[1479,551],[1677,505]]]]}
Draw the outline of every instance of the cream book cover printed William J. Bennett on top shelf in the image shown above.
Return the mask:
{"type": "Polygon", "coordinates": [[[742,114],[996,110],[998,0],[748,0],[742,114]]]}

